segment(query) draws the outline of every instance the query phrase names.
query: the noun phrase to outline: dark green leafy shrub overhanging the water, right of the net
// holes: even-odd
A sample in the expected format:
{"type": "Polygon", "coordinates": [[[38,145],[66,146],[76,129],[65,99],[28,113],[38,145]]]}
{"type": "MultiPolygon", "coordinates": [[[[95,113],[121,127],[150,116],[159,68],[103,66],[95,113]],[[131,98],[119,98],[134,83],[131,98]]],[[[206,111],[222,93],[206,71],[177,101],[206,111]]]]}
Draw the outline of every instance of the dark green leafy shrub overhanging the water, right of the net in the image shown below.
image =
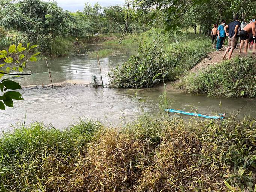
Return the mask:
{"type": "Polygon", "coordinates": [[[117,88],[153,86],[153,77],[168,66],[159,46],[155,42],[145,43],[139,48],[137,55],[129,58],[120,69],[117,68],[109,73],[109,86],[117,88]]]}

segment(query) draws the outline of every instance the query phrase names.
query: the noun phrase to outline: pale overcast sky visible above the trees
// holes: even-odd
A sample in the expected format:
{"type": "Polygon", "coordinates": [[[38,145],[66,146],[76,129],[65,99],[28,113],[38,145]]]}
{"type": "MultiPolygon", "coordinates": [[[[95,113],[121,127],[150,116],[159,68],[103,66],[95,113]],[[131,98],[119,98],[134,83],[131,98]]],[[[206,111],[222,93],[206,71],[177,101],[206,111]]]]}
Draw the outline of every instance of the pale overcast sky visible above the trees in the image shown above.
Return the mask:
{"type": "MultiPolygon", "coordinates": [[[[49,0],[44,0],[44,1],[49,1],[49,0]]],[[[55,1],[64,10],[69,10],[72,12],[77,10],[83,10],[83,6],[86,2],[91,3],[92,5],[98,2],[103,7],[116,5],[116,4],[120,4],[120,5],[125,4],[125,0],[55,0],[55,1]]]]}

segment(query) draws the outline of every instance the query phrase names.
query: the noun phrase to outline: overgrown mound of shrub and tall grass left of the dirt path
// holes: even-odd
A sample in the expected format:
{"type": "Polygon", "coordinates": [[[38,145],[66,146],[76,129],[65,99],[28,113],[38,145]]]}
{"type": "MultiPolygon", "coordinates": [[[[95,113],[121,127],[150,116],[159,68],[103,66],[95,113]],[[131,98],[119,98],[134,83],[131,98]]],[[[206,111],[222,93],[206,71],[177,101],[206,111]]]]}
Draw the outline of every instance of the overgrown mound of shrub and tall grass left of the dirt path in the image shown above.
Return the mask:
{"type": "Polygon", "coordinates": [[[206,38],[189,36],[190,39],[184,37],[174,42],[175,39],[171,37],[171,34],[159,29],[147,31],[146,35],[141,36],[138,54],[108,74],[109,86],[144,88],[163,80],[175,80],[210,51],[206,38]]]}

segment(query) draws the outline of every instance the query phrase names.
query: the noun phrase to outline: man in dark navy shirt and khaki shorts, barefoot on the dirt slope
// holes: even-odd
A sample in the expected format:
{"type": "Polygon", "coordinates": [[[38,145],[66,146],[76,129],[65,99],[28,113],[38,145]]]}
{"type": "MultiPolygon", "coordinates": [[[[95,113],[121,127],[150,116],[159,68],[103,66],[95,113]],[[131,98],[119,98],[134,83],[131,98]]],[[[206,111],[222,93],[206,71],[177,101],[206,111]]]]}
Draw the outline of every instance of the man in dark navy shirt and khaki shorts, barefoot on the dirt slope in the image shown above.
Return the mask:
{"type": "Polygon", "coordinates": [[[229,50],[230,51],[228,54],[228,59],[230,60],[230,58],[231,58],[231,55],[235,48],[235,44],[238,40],[237,35],[238,35],[238,29],[239,29],[240,25],[241,25],[241,23],[239,22],[239,17],[236,16],[235,21],[226,25],[226,27],[224,28],[226,36],[228,36],[228,47],[226,48],[226,51],[222,57],[224,60],[226,59],[226,54],[228,53],[229,50]],[[228,32],[227,32],[227,30],[228,30],[228,32]]]}

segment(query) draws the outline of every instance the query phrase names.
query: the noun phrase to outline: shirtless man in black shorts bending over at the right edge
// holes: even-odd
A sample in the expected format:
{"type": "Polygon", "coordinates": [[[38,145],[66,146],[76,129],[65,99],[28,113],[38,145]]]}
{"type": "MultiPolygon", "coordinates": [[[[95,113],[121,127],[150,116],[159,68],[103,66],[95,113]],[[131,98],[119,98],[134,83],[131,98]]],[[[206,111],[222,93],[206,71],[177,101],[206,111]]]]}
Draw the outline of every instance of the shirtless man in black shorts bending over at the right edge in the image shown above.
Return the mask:
{"type": "Polygon", "coordinates": [[[253,36],[256,36],[255,25],[256,21],[251,22],[240,32],[240,39],[245,41],[245,53],[247,53],[248,43],[252,42],[253,36]]]}

